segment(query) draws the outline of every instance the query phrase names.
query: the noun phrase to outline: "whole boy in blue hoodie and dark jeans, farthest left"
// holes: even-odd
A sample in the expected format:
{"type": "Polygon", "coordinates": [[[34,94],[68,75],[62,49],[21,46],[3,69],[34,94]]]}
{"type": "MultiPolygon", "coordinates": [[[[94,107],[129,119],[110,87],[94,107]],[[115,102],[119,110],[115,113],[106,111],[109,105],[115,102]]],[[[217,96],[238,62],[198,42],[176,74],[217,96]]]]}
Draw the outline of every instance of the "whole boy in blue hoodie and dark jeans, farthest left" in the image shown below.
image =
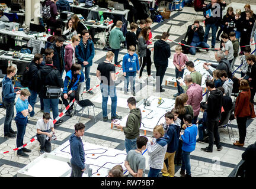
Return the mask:
{"type": "Polygon", "coordinates": [[[16,69],[13,66],[7,68],[7,76],[2,80],[2,97],[3,102],[6,107],[6,115],[4,122],[4,137],[5,138],[15,138],[16,131],[11,128],[11,120],[14,117],[14,100],[20,91],[14,92],[14,87],[12,86],[12,77],[15,76],[16,69]]]}

